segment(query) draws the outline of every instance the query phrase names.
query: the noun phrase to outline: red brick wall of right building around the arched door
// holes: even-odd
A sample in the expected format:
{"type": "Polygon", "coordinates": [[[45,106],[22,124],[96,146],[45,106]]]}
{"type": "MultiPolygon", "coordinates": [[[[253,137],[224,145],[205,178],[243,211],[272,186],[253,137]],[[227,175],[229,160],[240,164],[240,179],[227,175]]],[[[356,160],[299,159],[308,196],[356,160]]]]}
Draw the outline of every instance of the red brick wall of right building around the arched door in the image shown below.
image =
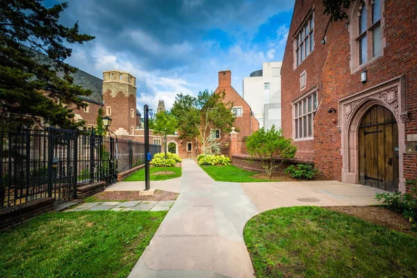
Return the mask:
{"type": "MultiPolygon", "coordinates": [[[[346,22],[329,24],[326,44],[321,44],[328,17],[322,13],[321,0],[297,0],[286,52],[281,70],[282,118],[292,119],[293,99],[315,85],[322,83],[318,101],[322,100],[313,121],[314,140],[295,142],[298,156],[311,156],[318,169],[329,179],[341,180],[341,133],[336,131],[337,115],[329,114],[329,108],[338,108],[338,101],[366,88],[405,74],[407,111],[410,122],[406,123],[405,136],[417,133],[417,10],[414,1],[384,1],[383,56],[366,66],[368,81],[361,83],[361,71],[350,70],[350,34],[346,22]],[[303,4],[302,4],[303,3],[303,4]],[[293,68],[292,38],[302,20],[312,7],[314,13],[314,50],[299,67],[293,68]],[[300,92],[300,74],[306,70],[306,89],[300,92]]],[[[354,23],[351,23],[354,24],[354,23]]],[[[283,121],[284,136],[292,137],[292,120],[283,121]]],[[[404,178],[417,178],[417,155],[404,155],[404,178]]]]}

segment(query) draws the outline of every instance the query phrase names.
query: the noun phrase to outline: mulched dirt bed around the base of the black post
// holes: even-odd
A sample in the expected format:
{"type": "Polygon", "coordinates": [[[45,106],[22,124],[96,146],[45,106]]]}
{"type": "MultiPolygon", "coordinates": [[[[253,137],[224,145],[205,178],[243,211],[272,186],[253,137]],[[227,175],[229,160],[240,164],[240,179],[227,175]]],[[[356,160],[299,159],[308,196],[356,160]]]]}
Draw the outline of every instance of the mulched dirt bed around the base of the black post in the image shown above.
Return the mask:
{"type": "Polygon", "coordinates": [[[139,191],[104,191],[94,195],[99,201],[170,201],[177,199],[179,193],[155,190],[155,195],[139,196],[139,191]]]}

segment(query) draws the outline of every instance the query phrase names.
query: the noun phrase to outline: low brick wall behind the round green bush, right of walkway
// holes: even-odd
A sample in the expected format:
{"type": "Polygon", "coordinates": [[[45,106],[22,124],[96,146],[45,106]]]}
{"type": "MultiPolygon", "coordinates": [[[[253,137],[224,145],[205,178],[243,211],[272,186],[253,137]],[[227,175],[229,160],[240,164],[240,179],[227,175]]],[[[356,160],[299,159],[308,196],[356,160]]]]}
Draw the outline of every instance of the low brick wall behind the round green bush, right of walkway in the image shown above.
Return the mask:
{"type": "MultiPolygon", "coordinates": [[[[300,164],[300,163],[314,165],[313,161],[300,160],[300,159],[293,158],[279,165],[279,167],[277,167],[277,169],[275,169],[274,172],[284,172],[284,169],[286,169],[286,167],[290,165],[300,164]]],[[[245,155],[245,154],[234,154],[231,157],[231,164],[235,165],[236,167],[245,169],[245,170],[250,170],[250,171],[255,171],[255,172],[264,171],[262,167],[262,162],[259,159],[250,158],[250,156],[245,155]]]]}

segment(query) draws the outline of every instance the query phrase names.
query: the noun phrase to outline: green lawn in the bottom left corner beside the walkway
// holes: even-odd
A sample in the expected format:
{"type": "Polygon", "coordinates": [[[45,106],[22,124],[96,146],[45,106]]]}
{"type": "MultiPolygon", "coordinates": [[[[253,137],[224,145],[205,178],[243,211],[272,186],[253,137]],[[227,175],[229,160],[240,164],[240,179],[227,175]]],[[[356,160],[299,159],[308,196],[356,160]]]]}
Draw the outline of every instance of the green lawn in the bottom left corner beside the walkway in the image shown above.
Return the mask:
{"type": "Polygon", "coordinates": [[[127,277],[165,214],[41,215],[0,233],[0,277],[127,277]]]}

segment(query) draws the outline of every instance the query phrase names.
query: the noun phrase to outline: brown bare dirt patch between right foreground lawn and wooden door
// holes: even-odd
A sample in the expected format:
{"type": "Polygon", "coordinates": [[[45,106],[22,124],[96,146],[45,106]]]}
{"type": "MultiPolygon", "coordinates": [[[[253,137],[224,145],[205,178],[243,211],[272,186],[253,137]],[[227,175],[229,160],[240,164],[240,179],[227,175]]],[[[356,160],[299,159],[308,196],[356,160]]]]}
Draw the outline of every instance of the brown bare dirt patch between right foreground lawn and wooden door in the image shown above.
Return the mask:
{"type": "Polygon", "coordinates": [[[326,208],[417,237],[417,232],[411,231],[413,224],[408,222],[401,213],[382,206],[329,206],[326,208]]]}

